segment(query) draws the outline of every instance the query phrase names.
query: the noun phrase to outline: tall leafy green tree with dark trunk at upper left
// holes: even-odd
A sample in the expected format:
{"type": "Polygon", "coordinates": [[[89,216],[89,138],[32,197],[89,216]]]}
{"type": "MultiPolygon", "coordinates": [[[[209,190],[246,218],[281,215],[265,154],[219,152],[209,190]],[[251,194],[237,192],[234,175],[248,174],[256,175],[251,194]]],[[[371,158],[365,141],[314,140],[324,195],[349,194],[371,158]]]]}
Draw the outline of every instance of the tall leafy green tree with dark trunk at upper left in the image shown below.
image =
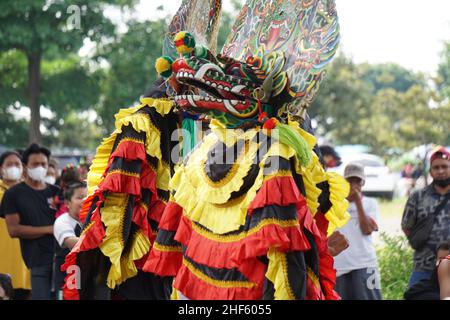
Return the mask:
{"type": "MultiPolygon", "coordinates": [[[[51,2],[3,0],[0,2],[0,52],[15,49],[22,52],[26,58],[25,94],[22,92],[21,95],[16,95],[16,101],[27,105],[31,110],[30,142],[42,140],[40,106],[44,102],[41,101],[44,87],[42,73],[45,68],[42,64],[43,59],[46,59],[47,55],[52,58],[55,55],[66,56],[76,53],[86,38],[94,42],[111,38],[114,36],[115,27],[104,16],[106,6],[125,6],[131,3],[133,0],[51,2]]],[[[67,69],[64,70],[67,71],[67,69]]],[[[67,73],[65,76],[66,79],[71,78],[67,73]]],[[[54,80],[53,84],[61,84],[57,78],[54,80]]],[[[76,84],[72,83],[73,86],[76,84]]],[[[82,94],[83,91],[80,90],[78,95],[82,94]]],[[[47,106],[53,109],[58,108],[59,105],[47,106]]]]}

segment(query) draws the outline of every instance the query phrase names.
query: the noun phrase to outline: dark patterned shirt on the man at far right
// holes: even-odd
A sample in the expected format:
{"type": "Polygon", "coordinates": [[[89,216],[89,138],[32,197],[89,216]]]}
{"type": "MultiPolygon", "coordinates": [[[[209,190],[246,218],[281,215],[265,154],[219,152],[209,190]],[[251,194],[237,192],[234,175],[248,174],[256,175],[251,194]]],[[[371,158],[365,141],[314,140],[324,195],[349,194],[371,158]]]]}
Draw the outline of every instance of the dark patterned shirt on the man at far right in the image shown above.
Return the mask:
{"type": "MultiPolygon", "coordinates": [[[[417,221],[433,214],[446,195],[436,192],[433,185],[411,194],[402,217],[402,227],[411,230],[417,221]]],[[[414,271],[433,271],[439,244],[450,239],[450,200],[436,213],[427,244],[414,252],[414,271]]]]}

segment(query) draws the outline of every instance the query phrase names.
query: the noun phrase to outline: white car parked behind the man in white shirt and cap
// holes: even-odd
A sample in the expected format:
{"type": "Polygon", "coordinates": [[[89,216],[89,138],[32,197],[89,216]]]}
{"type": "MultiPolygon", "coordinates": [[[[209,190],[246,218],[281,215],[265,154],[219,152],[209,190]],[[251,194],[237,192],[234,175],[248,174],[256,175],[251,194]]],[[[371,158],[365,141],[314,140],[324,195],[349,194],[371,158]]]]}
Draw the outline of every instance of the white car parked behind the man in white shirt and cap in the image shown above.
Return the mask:
{"type": "Polygon", "coordinates": [[[366,183],[362,191],[368,196],[383,197],[392,199],[395,194],[397,178],[385,165],[382,158],[369,153],[340,154],[342,164],[336,168],[330,168],[329,171],[344,175],[344,168],[350,162],[356,162],[364,166],[366,174],[366,183]]]}

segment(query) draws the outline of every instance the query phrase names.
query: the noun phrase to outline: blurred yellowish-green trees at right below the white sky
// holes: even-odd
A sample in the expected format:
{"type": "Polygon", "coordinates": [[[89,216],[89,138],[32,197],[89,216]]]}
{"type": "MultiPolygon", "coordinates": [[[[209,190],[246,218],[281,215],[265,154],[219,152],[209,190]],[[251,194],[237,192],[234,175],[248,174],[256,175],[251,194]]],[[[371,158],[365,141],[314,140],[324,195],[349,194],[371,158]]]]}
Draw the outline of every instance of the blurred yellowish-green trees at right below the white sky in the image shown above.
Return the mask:
{"type": "MultiPolygon", "coordinates": [[[[441,65],[442,75],[447,69],[441,65]]],[[[310,107],[316,132],[335,144],[368,145],[380,155],[422,144],[449,145],[448,99],[437,100],[428,82],[393,64],[358,65],[338,56],[310,107]]]]}

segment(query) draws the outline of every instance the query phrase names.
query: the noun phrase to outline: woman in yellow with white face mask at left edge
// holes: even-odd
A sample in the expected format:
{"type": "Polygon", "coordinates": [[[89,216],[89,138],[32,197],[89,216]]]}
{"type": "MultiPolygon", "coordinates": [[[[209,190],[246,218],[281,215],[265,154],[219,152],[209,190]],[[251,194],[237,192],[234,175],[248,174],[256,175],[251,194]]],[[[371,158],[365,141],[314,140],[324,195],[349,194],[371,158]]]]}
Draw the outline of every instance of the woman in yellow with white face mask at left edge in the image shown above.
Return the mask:
{"type": "MultiPolygon", "coordinates": [[[[17,152],[7,151],[0,156],[0,203],[5,191],[22,180],[22,171],[17,152]]],[[[20,242],[10,238],[4,217],[0,218],[0,252],[0,273],[11,276],[16,299],[26,298],[31,289],[30,272],[22,260],[20,242]]]]}

